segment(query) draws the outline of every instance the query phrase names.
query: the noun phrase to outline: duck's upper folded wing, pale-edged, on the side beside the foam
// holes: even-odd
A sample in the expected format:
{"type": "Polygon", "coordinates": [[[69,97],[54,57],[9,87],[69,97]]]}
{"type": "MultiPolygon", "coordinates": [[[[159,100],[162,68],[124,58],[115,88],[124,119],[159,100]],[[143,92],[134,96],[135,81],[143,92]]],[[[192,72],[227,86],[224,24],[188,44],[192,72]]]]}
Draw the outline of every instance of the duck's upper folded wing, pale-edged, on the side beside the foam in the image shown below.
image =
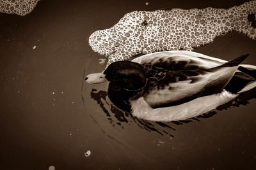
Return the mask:
{"type": "MultiPolygon", "coordinates": [[[[193,70],[194,73],[192,74],[194,75],[196,72],[200,72],[200,70],[223,64],[222,60],[214,60],[213,57],[207,58],[206,55],[204,57],[204,55],[200,53],[183,51],[150,53],[132,61],[140,63],[145,68],[148,78],[148,90],[159,84],[159,81],[162,81],[165,76],[170,80],[170,74],[175,74],[179,80],[184,79],[184,76],[188,77],[189,74],[191,74],[191,72],[188,72],[188,75],[186,75],[187,73],[179,74],[177,71],[193,70]],[[169,71],[172,71],[172,73],[169,71]]],[[[196,78],[194,77],[193,79],[195,80],[196,78]]],[[[175,82],[176,80],[170,81],[173,83],[173,81],[175,82]]]]}

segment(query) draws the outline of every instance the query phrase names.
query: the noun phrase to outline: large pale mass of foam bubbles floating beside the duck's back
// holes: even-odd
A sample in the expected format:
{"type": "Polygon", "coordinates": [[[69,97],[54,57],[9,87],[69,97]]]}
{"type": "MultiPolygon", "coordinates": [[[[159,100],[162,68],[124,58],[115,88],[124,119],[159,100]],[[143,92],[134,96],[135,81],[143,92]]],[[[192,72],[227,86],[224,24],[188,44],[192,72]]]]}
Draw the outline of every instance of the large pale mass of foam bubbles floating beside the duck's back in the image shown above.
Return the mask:
{"type": "Polygon", "coordinates": [[[141,53],[193,50],[230,31],[256,39],[255,14],[256,1],[229,9],[133,11],[113,27],[93,32],[89,43],[95,52],[108,56],[110,64],[141,53]]]}

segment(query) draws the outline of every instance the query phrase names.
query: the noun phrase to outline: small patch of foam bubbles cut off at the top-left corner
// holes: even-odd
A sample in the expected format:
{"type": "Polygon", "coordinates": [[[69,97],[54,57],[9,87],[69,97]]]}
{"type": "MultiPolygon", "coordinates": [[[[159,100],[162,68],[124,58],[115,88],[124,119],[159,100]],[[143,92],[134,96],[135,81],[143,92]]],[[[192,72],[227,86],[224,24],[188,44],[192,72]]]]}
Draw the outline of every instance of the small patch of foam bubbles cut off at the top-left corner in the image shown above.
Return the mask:
{"type": "Polygon", "coordinates": [[[15,13],[17,15],[27,15],[36,6],[39,0],[0,0],[1,13],[15,13]]]}

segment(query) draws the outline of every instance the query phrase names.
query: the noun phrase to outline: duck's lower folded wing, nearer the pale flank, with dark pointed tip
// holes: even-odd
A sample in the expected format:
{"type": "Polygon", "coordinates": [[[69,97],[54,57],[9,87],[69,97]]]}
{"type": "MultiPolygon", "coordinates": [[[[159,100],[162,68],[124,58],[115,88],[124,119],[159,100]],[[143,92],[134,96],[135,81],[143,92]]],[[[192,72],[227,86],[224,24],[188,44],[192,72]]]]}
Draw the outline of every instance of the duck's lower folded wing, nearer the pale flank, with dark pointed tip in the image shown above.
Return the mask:
{"type": "Polygon", "coordinates": [[[157,83],[151,83],[151,79],[148,79],[148,84],[154,84],[154,87],[149,86],[144,99],[152,108],[159,108],[216,94],[225,88],[236,73],[239,67],[237,65],[247,56],[237,57],[237,59],[211,69],[185,69],[165,73],[161,71],[164,76],[157,83]]]}

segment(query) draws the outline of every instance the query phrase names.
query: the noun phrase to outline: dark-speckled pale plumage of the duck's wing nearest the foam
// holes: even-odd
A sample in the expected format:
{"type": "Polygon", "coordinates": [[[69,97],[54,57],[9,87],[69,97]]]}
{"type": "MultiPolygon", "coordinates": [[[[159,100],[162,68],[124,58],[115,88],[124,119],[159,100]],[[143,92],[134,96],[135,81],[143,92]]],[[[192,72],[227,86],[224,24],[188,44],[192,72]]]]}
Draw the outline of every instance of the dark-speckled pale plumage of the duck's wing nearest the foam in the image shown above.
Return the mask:
{"type": "MultiPolygon", "coordinates": [[[[168,71],[181,71],[192,69],[208,69],[214,66],[218,66],[221,62],[210,59],[196,59],[195,57],[189,57],[186,55],[178,56],[175,53],[161,52],[147,55],[140,59],[134,59],[134,62],[140,63],[147,71],[148,77],[148,89],[154,88],[159,81],[161,81],[168,71]],[[205,64],[204,60],[209,61],[205,64]]],[[[177,74],[177,73],[176,73],[177,74]]],[[[182,76],[182,74],[180,74],[182,76]]]]}

